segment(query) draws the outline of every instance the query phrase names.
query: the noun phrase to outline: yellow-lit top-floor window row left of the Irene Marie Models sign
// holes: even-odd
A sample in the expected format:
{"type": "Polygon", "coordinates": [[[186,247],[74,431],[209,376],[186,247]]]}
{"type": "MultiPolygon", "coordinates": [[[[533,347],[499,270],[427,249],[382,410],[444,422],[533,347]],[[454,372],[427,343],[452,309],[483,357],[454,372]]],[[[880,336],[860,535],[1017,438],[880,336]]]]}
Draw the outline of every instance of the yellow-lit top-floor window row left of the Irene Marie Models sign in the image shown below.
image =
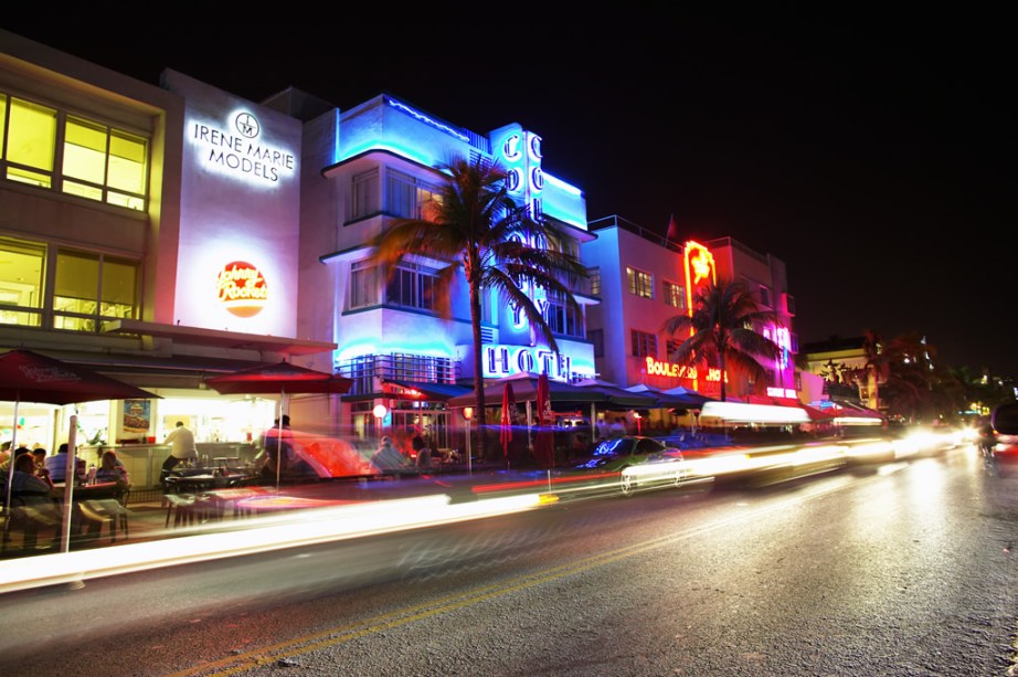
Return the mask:
{"type": "Polygon", "coordinates": [[[148,139],[0,94],[0,171],[10,181],[145,211],[148,139]]]}

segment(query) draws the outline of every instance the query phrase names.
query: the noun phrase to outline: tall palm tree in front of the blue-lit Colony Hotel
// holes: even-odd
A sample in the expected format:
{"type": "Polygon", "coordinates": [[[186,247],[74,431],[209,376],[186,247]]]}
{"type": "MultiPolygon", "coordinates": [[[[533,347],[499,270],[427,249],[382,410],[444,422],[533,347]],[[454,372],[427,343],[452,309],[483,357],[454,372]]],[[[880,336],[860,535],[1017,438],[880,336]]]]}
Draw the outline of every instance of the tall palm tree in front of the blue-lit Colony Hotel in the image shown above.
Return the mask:
{"type": "MultiPolygon", "coordinates": [[[[448,173],[427,211],[428,219],[399,219],[372,242],[374,262],[390,278],[404,256],[415,254],[448,262],[438,276],[434,307],[445,319],[453,316],[452,287],[460,269],[469,288],[474,339],[474,390],[484,422],[485,383],[481,355],[481,298],[488,290],[522,311],[535,338],[551,350],[559,347],[551,328],[523,289],[543,288],[549,298],[580,314],[572,294],[587,276],[580,260],[561,251],[558,226],[520,207],[509,197],[506,172],[498,165],[455,158],[438,167],[448,173]]],[[[477,453],[485,455],[485,435],[477,453]]]]}

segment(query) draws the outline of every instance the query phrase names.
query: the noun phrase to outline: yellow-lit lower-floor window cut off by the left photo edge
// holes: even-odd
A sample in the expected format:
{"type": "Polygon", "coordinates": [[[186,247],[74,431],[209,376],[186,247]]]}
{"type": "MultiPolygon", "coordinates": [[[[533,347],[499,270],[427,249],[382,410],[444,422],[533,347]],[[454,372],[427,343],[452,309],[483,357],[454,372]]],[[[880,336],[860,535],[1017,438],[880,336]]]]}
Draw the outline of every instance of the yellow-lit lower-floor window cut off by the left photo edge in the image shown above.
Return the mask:
{"type": "Polygon", "coordinates": [[[0,237],[0,325],[42,326],[46,246],[0,237]]]}

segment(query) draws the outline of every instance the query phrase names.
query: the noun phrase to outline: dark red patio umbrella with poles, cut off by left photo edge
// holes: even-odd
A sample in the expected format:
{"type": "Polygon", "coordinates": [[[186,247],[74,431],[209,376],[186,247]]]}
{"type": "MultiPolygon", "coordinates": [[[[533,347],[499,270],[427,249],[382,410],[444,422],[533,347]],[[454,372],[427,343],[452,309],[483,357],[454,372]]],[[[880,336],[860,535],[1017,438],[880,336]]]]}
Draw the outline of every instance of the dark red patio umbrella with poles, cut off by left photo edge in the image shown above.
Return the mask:
{"type": "MultiPolygon", "coordinates": [[[[13,454],[18,448],[18,406],[21,402],[43,404],[76,404],[98,400],[160,400],[159,395],[110,379],[100,373],[70,364],[39,352],[15,349],[0,356],[0,401],[14,403],[13,433],[11,434],[11,472],[7,474],[7,501],[4,537],[10,528],[11,483],[14,478],[13,454]]],[[[66,552],[71,539],[71,506],[74,491],[76,426],[71,426],[67,441],[67,479],[64,482],[64,523],[61,550],[66,552]]]]}

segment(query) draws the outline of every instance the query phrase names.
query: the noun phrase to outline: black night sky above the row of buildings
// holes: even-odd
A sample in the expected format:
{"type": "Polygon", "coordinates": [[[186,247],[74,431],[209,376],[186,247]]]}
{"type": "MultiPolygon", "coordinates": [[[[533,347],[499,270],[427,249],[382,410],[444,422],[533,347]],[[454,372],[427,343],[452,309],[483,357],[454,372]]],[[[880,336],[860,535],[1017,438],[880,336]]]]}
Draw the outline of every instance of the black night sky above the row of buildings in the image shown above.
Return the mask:
{"type": "Polygon", "coordinates": [[[13,9],[0,25],[151,84],[171,67],[253,101],[389,92],[479,133],[520,123],[588,219],[664,234],[675,214],[682,239],[783,260],[800,345],[916,331],[948,366],[1018,375],[1010,22],[978,3],[838,7],[572,25],[202,14],[136,38],[13,9]]]}

